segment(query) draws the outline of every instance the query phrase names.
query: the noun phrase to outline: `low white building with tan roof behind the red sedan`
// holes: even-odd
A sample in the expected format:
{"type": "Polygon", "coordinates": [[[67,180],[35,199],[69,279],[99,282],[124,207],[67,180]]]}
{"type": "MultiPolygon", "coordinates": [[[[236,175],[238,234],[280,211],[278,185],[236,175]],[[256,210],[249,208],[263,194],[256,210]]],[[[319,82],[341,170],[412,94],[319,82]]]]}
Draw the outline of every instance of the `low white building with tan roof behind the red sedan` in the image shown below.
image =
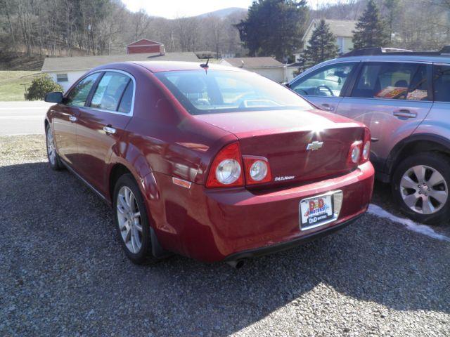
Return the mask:
{"type": "Polygon", "coordinates": [[[285,81],[285,65],[271,57],[222,58],[220,64],[256,72],[280,83],[285,81]]]}

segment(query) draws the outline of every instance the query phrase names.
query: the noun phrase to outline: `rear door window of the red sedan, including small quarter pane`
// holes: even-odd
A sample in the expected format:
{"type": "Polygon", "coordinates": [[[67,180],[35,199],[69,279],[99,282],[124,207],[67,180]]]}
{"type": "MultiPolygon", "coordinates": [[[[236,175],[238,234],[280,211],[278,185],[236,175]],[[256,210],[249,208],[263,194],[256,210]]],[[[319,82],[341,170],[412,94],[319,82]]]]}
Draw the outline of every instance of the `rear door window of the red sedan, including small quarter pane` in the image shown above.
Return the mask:
{"type": "Polygon", "coordinates": [[[120,72],[105,72],[92,96],[91,107],[117,111],[120,99],[131,78],[120,72]]]}

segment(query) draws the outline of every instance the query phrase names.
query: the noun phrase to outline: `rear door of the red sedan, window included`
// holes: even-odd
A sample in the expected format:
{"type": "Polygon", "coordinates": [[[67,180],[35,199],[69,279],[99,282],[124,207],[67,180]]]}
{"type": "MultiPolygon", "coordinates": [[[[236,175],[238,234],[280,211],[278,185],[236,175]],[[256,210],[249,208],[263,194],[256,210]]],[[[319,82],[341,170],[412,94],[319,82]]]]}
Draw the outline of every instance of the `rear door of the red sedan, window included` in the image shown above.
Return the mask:
{"type": "Polygon", "coordinates": [[[80,109],[77,145],[84,179],[107,195],[106,168],[133,113],[134,78],[126,72],[102,73],[88,106],[80,109]]]}

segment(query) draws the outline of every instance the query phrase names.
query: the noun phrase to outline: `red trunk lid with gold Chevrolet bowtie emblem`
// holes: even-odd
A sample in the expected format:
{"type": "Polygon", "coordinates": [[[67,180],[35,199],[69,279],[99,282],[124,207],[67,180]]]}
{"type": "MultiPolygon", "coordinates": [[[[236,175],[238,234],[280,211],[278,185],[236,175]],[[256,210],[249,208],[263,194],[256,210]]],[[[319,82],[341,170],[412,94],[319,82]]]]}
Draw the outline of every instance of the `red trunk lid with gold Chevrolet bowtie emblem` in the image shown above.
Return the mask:
{"type": "Polygon", "coordinates": [[[196,118],[233,133],[242,154],[269,160],[271,183],[304,183],[348,172],[350,146],[364,127],[320,110],[203,114],[196,118]]]}

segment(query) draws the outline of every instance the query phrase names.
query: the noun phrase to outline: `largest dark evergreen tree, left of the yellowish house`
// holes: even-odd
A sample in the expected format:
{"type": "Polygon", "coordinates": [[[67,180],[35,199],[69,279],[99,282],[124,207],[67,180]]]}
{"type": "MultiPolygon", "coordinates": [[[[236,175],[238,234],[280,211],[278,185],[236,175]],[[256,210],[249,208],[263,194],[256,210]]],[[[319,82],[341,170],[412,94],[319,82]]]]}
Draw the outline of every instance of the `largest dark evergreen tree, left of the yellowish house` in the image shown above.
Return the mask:
{"type": "Polygon", "coordinates": [[[285,61],[302,44],[307,22],[306,0],[255,0],[236,27],[251,56],[285,61]]]}

